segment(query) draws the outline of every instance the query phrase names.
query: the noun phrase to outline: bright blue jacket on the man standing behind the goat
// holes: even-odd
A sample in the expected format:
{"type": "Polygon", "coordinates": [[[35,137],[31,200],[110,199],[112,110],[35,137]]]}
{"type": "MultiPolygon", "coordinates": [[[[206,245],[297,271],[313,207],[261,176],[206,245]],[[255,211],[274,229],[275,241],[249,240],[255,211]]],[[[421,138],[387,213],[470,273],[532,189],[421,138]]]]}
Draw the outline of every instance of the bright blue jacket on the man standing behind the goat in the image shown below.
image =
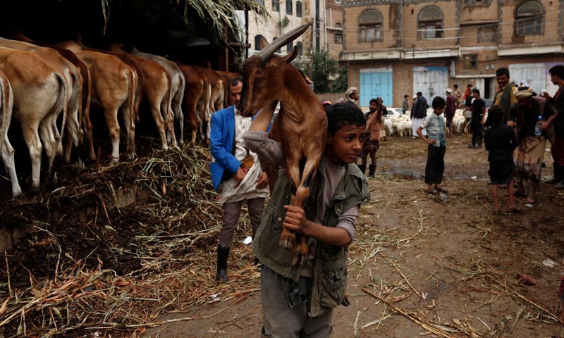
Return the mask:
{"type": "MultiPolygon", "coordinates": [[[[255,116],[252,119],[255,119],[255,116]]],[[[215,161],[210,163],[209,169],[212,173],[214,190],[217,190],[225,170],[229,170],[234,174],[237,173],[238,168],[241,166],[240,161],[231,154],[231,151],[233,151],[233,140],[235,139],[235,106],[230,106],[213,113],[210,125],[209,150],[212,152],[215,161]]]]}

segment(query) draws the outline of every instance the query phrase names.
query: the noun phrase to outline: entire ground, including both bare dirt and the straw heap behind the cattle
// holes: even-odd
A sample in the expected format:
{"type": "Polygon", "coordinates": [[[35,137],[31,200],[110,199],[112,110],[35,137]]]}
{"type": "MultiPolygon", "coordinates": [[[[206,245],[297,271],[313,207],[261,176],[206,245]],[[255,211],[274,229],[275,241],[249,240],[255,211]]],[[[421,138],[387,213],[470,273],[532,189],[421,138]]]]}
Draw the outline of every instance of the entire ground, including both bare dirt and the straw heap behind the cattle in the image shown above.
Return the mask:
{"type": "MultiPolygon", "coordinates": [[[[541,184],[537,204],[519,198],[520,215],[494,215],[486,151],[449,141],[446,198],[424,192],[421,140],[382,142],[349,250],[351,305],[336,309],[333,337],[564,337],[563,192],[541,184]]],[[[217,284],[209,151],[188,153],[147,150],[82,175],[66,167],[58,188],[3,200],[0,224],[37,230],[0,263],[0,337],[258,337],[249,222],[235,235],[230,281],[217,284]],[[140,186],[145,204],[111,207],[118,187],[140,186]]],[[[545,161],[551,176],[548,149],[545,161]]]]}

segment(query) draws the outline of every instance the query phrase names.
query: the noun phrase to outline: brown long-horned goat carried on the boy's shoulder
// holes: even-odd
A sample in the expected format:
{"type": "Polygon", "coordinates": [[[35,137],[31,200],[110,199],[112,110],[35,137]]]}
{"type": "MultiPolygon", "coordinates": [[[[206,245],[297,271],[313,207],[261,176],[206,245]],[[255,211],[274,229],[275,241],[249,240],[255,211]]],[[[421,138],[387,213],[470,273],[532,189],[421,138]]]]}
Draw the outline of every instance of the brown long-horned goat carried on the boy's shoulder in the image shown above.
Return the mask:
{"type": "MultiPolygon", "coordinates": [[[[254,115],[259,108],[280,102],[280,111],[271,127],[270,136],[281,143],[290,181],[290,204],[304,206],[309,187],[321,163],[327,137],[325,110],[300,71],[290,62],[298,56],[294,47],[287,56],[274,52],[302,35],[312,22],[291,30],[266,46],[259,54],[243,63],[243,92],[240,110],[243,116],[254,115]],[[303,171],[300,162],[305,160],[303,171]]],[[[267,175],[269,175],[267,173],[267,175]]],[[[269,180],[274,182],[269,175],[269,180]]],[[[278,244],[292,249],[292,265],[307,258],[307,237],[283,229],[278,244]]]]}

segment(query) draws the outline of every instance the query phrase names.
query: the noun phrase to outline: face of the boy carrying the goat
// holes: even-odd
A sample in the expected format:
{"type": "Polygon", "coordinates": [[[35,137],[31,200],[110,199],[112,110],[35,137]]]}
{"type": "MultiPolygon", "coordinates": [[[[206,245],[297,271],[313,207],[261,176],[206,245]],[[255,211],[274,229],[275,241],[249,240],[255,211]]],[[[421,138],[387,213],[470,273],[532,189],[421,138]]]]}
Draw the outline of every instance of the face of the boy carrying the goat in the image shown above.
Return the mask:
{"type": "Polygon", "coordinates": [[[362,138],[366,134],[366,125],[345,125],[334,135],[329,134],[325,157],[334,165],[355,163],[362,150],[362,138]]]}

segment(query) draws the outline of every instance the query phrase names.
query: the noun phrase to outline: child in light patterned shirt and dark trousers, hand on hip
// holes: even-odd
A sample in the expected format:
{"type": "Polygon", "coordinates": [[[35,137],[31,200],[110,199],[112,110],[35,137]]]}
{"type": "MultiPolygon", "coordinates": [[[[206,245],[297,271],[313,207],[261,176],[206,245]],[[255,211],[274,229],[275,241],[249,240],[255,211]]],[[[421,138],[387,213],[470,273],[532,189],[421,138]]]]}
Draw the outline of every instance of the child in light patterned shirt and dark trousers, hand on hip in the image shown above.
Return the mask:
{"type": "Polygon", "coordinates": [[[425,183],[429,184],[427,192],[432,195],[448,192],[441,187],[445,171],[445,120],[441,114],[445,110],[446,101],[441,96],[433,99],[433,113],[424,118],[423,123],[417,128],[417,134],[425,143],[429,144],[427,166],[425,167],[425,183]],[[427,137],[422,130],[427,129],[427,137]]]}

